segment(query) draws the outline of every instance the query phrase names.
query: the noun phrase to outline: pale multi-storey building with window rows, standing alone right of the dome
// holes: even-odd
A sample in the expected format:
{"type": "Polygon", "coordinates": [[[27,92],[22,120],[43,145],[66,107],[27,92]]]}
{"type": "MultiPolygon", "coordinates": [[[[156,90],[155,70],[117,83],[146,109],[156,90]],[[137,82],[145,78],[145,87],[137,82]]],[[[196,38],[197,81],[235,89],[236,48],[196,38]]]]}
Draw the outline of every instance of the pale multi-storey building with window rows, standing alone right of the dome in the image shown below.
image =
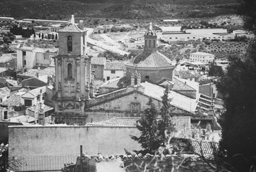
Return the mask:
{"type": "Polygon", "coordinates": [[[203,62],[209,64],[214,62],[214,54],[206,53],[206,52],[193,52],[189,55],[189,59],[191,61],[203,62]]]}

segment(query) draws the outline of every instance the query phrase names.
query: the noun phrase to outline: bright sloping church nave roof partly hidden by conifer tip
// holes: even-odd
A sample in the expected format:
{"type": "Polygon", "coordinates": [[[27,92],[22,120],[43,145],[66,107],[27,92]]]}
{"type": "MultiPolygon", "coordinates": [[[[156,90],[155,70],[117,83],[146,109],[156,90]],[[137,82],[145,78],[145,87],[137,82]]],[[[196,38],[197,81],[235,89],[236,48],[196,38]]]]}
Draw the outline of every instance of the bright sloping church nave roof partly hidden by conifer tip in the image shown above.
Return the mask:
{"type": "MultiPolygon", "coordinates": [[[[144,95],[162,101],[161,97],[163,96],[165,88],[158,85],[153,85],[150,82],[144,82],[141,85],[145,87],[145,90],[143,92],[144,95]]],[[[198,100],[186,97],[185,95],[180,95],[179,93],[174,91],[170,91],[169,98],[172,100],[170,102],[170,105],[186,110],[190,113],[195,112],[196,105],[198,104],[198,100]]]]}

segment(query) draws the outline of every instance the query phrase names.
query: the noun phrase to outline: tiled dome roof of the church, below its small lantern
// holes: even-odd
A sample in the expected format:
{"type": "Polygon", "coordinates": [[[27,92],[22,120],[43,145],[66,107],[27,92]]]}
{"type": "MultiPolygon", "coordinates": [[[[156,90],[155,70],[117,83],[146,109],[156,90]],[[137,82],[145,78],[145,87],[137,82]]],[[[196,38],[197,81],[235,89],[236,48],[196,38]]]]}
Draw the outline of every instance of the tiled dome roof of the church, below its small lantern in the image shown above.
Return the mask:
{"type": "Polygon", "coordinates": [[[134,67],[172,67],[168,57],[160,52],[142,52],[127,63],[127,66],[134,67]]]}

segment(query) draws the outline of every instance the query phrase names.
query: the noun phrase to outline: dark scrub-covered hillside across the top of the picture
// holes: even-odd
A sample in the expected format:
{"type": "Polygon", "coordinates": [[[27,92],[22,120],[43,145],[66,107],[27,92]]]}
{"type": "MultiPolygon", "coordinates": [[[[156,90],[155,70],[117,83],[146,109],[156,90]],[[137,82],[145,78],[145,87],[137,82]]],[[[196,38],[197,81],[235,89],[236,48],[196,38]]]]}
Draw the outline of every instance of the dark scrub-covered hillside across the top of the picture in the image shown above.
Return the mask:
{"type": "Polygon", "coordinates": [[[236,0],[8,0],[0,4],[0,16],[17,19],[65,19],[78,17],[163,19],[234,14],[236,0]]]}

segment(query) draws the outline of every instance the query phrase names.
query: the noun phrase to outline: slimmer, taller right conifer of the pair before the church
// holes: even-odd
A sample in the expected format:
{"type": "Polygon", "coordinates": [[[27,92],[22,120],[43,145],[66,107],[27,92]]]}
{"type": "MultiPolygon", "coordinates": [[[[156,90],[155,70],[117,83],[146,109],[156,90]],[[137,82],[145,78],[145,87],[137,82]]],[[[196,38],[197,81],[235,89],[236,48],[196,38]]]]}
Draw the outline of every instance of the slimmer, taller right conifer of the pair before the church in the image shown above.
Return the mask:
{"type": "Polygon", "coordinates": [[[161,97],[162,98],[162,108],[160,108],[160,116],[161,119],[158,121],[158,135],[160,137],[160,145],[165,146],[165,143],[167,143],[168,140],[168,135],[175,130],[173,123],[170,121],[170,113],[172,111],[170,101],[171,99],[169,98],[169,92],[170,92],[170,87],[169,85],[166,87],[164,95],[161,97]],[[167,135],[165,135],[165,133],[167,135]]]}

